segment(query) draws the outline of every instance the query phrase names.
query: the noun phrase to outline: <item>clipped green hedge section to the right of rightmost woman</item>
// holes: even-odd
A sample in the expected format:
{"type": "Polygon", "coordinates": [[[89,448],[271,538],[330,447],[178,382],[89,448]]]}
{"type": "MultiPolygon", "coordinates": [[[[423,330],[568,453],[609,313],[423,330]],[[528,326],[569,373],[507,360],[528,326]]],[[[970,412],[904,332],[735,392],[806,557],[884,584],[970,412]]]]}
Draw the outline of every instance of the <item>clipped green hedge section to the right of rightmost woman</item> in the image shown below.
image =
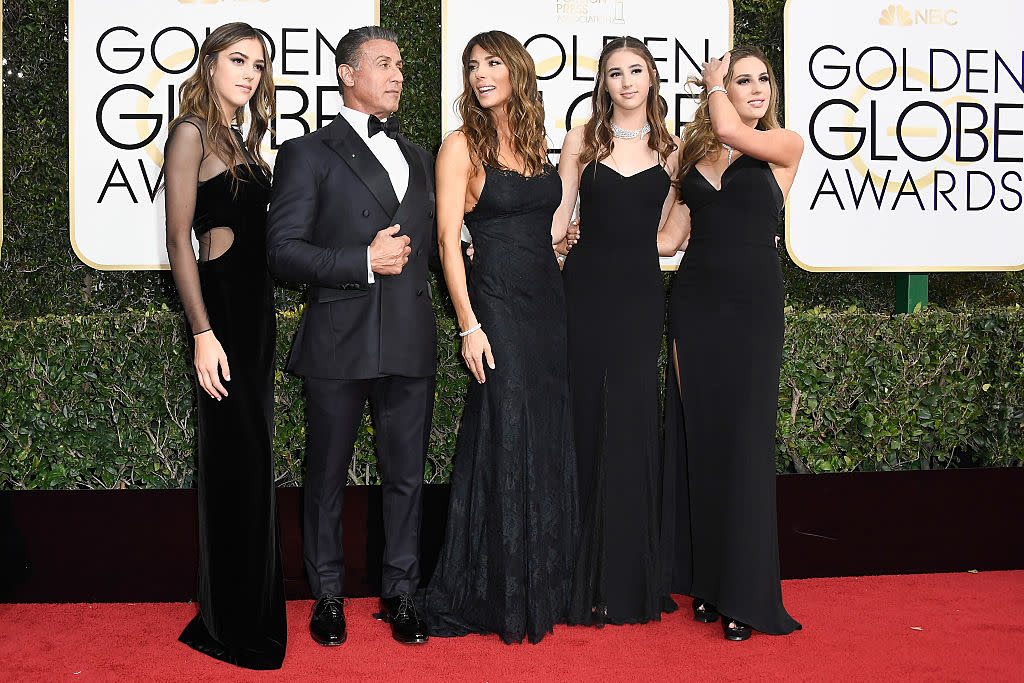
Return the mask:
{"type": "Polygon", "coordinates": [[[780,471],[1024,465],[1020,309],[787,316],[780,471]]]}

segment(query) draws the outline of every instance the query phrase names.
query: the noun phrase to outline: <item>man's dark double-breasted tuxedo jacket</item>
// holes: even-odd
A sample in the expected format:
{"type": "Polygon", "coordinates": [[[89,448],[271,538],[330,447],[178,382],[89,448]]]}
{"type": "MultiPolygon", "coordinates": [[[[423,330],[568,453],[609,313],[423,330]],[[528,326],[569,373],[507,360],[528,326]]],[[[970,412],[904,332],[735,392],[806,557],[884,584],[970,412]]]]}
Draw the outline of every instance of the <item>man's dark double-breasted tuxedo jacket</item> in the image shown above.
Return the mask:
{"type": "Polygon", "coordinates": [[[278,152],[267,260],[275,278],[309,285],[289,372],[323,379],[434,374],[433,159],[400,134],[395,139],[409,162],[400,203],[387,171],[342,116],[278,152]],[[409,262],[401,273],[374,273],[368,284],[367,247],[394,223],[411,240],[409,262]]]}

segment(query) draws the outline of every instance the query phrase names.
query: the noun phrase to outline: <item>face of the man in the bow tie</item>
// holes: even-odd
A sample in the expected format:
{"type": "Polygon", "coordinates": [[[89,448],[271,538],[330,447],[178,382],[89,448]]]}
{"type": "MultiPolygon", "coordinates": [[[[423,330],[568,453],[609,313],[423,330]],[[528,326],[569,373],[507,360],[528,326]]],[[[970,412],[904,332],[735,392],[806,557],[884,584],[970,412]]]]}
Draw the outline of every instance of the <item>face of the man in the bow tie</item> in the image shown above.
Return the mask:
{"type": "Polygon", "coordinates": [[[401,52],[391,41],[377,38],[362,43],[358,55],[358,65],[338,67],[345,106],[386,119],[398,111],[401,100],[401,52]]]}

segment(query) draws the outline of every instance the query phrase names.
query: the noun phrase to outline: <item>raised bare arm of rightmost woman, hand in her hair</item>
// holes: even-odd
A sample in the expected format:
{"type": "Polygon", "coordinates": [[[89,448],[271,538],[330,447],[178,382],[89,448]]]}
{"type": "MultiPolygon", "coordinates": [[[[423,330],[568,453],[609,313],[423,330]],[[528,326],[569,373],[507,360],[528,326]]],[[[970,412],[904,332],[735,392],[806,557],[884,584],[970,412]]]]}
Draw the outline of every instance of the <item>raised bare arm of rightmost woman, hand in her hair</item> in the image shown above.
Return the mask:
{"type": "MultiPolygon", "coordinates": [[[[725,83],[729,58],[729,53],[726,52],[721,59],[712,59],[707,63],[703,71],[706,92],[710,92],[715,87],[728,90],[730,87],[739,86],[745,78],[760,78],[762,76],[761,73],[734,73],[732,81],[725,83]]],[[[750,60],[748,59],[748,61],[750,60]]],[[[769,95],[770,93],[766,93],[765,98],[770,99],[769,95]]],[[[711,115],[712,129],[720,141],[744,155],[796,173],[800,157],[804,152],[804,140],[799,134],[785,128],[758,130],[744,125],[739,114],[736,113],[735,106],[729,100],[729,95],[721,90],[716,90],[709,95],[708,110],[711,115]]]]}

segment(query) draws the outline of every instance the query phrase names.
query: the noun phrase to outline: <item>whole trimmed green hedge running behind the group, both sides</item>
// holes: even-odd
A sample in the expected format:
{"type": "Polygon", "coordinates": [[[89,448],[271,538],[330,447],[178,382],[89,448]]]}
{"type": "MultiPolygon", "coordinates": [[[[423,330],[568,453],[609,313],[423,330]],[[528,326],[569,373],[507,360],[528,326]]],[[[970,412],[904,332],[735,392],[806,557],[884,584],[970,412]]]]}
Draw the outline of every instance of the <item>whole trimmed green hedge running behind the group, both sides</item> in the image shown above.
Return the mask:
{"type": "MultiPolygon", "coordinates": [[[[280,313],[279,367],[298,324],[280,313]]],[[[778,470],[1024,465],[1024,311],[787,315],[778,470]]],[[[466,387],[439,319],[428,481],[446,480],[466,387]]],[[[0,323],[0,488],[191,484],[195,408],[180,315],[49,315],[0,323]]],[[[302,480],[301,384],[276,377],[276,475],[302,480]]],[[[364,425],[349,472],[377,481],[364,425]]]]}

